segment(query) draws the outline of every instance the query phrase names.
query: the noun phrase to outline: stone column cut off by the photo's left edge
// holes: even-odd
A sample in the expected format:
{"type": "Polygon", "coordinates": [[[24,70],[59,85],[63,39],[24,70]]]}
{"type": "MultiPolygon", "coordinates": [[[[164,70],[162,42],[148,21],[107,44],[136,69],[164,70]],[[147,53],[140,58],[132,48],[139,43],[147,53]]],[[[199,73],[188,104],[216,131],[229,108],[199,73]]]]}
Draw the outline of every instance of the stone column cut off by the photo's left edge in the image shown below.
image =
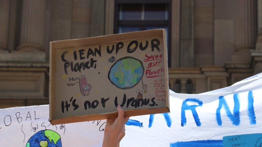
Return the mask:
{"type": "Polygon", "coordinates": [[[8,52],[10,0],[0,0],[0,52],[8,52]]]}

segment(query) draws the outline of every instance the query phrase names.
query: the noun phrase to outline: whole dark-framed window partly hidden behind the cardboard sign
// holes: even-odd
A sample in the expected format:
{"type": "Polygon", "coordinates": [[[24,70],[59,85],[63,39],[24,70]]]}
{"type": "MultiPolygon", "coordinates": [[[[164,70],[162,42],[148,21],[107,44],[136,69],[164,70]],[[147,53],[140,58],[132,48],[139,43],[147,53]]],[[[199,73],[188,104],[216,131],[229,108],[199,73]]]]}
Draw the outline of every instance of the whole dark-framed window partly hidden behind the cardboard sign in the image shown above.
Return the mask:
{"type": "Polygon", "coordinates": [[[171,67],[171,0],[115,0],[114,22],[114,33],[165,28],[171,67]]]}

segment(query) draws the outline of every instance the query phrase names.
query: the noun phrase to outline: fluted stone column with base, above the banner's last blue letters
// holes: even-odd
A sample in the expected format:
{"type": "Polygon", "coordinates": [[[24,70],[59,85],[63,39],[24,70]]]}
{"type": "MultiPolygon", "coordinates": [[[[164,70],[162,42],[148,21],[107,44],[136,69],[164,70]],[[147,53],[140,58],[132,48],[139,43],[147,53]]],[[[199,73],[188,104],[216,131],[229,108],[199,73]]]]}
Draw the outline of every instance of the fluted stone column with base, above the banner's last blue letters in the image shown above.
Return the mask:
{"type": "Polygon", "coordinates": [[[257,1],[237,0],[236,4],[236,50],[232,61],[249,62],[250,49],[255,49],[257,39],[257,1]]]}

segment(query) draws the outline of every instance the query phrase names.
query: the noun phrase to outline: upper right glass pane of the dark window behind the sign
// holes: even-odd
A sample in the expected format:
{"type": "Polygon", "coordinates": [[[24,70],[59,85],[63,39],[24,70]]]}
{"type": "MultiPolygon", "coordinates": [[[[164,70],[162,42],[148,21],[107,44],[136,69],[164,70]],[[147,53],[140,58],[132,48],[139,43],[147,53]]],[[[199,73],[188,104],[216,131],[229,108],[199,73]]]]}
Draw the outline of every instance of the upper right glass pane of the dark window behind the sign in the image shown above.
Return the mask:
{"type": "Polygon", "coordinates": [[[168,19],[167,4],[147,4],[145,5],[145,20],[167,20],[168,19]]]}

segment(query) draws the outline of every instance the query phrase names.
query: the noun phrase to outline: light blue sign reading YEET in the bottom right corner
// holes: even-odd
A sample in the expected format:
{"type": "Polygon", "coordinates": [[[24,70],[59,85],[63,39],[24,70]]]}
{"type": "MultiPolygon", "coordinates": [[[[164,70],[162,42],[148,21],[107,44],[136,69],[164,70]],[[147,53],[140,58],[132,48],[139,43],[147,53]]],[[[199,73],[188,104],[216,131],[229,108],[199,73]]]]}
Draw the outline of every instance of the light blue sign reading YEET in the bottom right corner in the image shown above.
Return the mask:
{"type": "Polygon", "coordinates": [[[262,145],[262,133],[243,134],[223,137],[223,147],[232,146],[252,146],[259,147],[262,145]]]}

